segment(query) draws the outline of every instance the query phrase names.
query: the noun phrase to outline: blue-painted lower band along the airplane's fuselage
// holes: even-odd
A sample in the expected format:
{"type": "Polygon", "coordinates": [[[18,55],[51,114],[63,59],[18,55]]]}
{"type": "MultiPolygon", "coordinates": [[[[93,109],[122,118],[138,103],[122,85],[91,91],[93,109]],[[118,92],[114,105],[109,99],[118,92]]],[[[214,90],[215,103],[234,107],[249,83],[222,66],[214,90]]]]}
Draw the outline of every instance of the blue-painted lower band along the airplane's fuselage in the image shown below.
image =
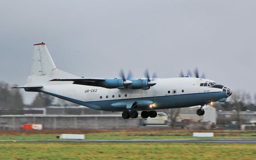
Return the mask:
{"type": "MultiPolygon", "coordinates": [[[[107,110],[107,111],[124,111],[126,108],[115,108],[111,104],[116,102],[136,102],[138,100],[151,100],[156,104],[154,109],[165,109],[165,108],[182,108],[189,106],[204,105],[210,102],[215,102],[226,96],[225,92],[204,92],[204,93],[191,93],[191,94],[176,94],[176,95],[164,95],[154,97],[143,97],[143,98],[127,98],[127,99],[116,99],[116,100],[99,100],[84,102],[73,98],[61,96],[58,94],[46,92],[44,90],[36,89],[37,92],[43,92],[82,106],[87,106],[96,110],[107,110]]],[[[136,110],[147,110],[148,108],[135,108],[136,110]]]]}

